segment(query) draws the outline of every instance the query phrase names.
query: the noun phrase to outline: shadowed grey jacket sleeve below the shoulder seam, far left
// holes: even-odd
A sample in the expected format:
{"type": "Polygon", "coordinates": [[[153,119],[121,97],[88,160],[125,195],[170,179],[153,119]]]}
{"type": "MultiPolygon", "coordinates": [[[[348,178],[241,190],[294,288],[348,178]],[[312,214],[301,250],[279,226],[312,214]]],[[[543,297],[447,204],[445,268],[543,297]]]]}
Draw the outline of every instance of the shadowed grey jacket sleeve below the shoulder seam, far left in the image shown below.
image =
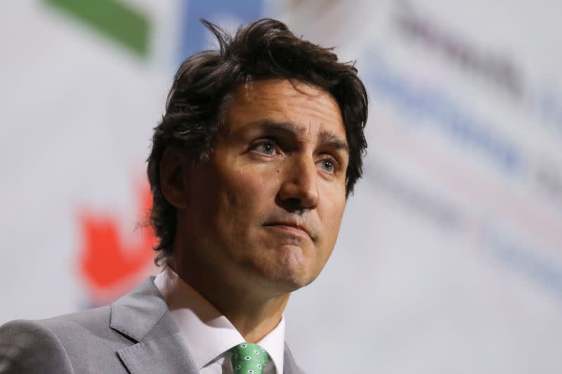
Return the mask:
{"type": "Polygon", "coordinates": [[[65,347],[39,321],[0,326],[0,373],[72,373],[65,347]]]}

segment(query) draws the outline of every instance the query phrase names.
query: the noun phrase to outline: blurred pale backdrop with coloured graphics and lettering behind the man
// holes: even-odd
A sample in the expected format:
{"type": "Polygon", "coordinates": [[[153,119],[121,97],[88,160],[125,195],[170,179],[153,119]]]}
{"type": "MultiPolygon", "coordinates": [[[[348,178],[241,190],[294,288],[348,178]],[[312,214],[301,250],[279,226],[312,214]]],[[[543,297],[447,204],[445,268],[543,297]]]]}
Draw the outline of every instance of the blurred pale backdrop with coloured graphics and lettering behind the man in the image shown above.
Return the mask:
{"type": "Polygon", "coordinates": [[[286,312],[296,361],[311,374],[560,373],[560,10],[3,1],[0,323],[103,305],[157,272],[145,159],[172,76],[212,46],[199,18],[267,16],[356,60],[371,102],[334,255],[286,312]],[[354,356],[335,356],[341,345],[354,356]]]}

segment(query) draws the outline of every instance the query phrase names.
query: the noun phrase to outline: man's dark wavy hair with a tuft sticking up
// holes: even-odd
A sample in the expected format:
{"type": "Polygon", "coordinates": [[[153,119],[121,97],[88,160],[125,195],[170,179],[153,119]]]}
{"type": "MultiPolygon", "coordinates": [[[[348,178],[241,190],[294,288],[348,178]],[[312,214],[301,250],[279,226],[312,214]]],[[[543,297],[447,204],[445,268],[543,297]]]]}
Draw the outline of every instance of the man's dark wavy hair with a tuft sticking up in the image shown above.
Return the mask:
{"type": "Polygon", "coordinates": [[[160,186],[159,164],[169,146],[185,149],[193,163],[204,162],[223,122],[226,102],[249,80],[296,79],[331,93],[346,128],[349,164],[346,197],[362,175],[367,142],[367,92],[353,62],[338,62],[333,48],[322,48],[296,37],[277,20],[257,20],[231,36],[221,27],[201,21],[218,40],[218,50],[190,56],[178,69],[166,101],[166,112],[155,127],[148,157],[152,192],[150,225],[159,242],[155,263],[169,260],[176,234],[176,209],[160,186]]]}

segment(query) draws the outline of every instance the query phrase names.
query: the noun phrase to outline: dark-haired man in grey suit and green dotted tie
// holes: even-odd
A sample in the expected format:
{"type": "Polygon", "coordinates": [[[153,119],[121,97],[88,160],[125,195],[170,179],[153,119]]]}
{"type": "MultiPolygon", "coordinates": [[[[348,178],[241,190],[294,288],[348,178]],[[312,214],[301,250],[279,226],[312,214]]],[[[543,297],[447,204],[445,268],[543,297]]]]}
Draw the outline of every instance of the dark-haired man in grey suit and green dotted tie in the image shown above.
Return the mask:
{"type": "Polygon", "coordinates": [[[293,290],[327,262],[362,173],[353,65],[275,20],[176,73],[148,158],[162,272],[108,307],[0,328],[0,372],[302,373],[293,290]]]}

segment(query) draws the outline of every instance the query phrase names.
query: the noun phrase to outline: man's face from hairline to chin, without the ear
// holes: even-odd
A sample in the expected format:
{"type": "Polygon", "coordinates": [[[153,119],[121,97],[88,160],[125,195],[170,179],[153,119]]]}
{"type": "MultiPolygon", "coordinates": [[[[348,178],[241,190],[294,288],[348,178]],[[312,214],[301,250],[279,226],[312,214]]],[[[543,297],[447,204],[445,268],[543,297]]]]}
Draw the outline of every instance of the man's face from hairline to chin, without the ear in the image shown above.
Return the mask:
{"type": "Polygon", "coordinates": [[[211,159],[190,173],[188,251],[229,282],[306,286],[334,248],[347,166],[332,95],[288,80],[239,88],[211,159]]]}

